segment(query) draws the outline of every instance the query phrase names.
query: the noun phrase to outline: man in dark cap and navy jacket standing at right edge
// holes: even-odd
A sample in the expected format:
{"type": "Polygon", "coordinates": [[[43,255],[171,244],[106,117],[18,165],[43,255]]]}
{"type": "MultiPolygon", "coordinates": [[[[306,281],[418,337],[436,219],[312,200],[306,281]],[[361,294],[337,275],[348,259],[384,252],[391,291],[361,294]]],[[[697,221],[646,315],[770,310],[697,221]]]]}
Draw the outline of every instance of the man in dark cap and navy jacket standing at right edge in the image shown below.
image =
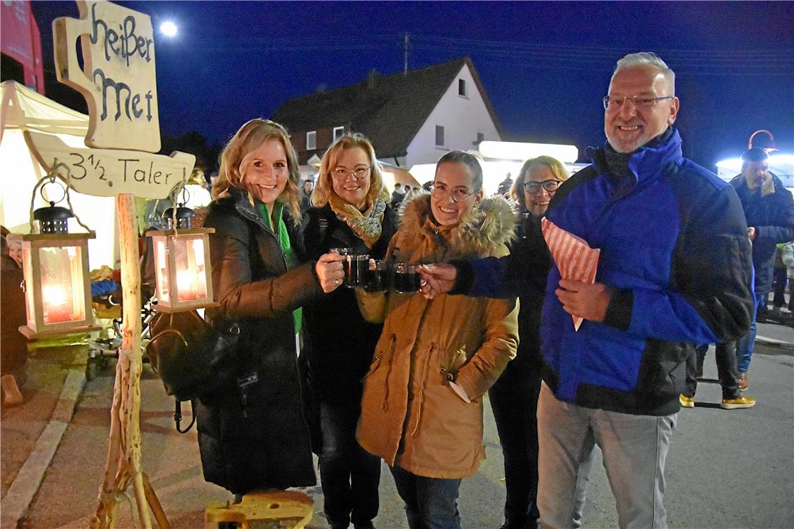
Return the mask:
{"type": "Polygon", "coordinates": [[[742,155],[742,174],[737,174],[730,185],[742,202],[755,270],[755,317],[750,333],[736,343],[739,389],[744,391],[750,386],[747,370],[755,345],[756,319],[765,311],[772,289],[775,245],[794,239],[794,201],[780,178],[769,172],[769,155],[763,149],[750,149],[742,155]]]}

